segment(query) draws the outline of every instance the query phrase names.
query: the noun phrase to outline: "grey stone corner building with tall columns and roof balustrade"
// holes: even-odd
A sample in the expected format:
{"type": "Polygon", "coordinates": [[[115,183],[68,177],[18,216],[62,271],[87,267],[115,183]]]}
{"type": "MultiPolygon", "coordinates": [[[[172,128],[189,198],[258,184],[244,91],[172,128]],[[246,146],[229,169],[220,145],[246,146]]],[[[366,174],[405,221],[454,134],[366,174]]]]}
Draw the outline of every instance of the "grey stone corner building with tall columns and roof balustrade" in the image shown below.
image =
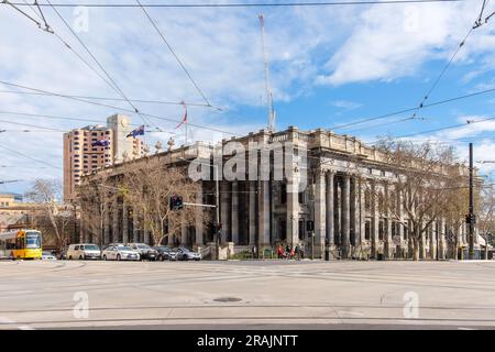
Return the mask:
{"type": "MultiPolygon", "coordinates": [[[[230,254],[249,251],[253,245],[260,254],[265,249],[273,249],[276,243],[301,244],[307,256],[324,256],[328,249],[330,257],[355,258],[393,258],[409,257],[411,241],[406,227],[408,219],[402,212],[400,221],[393,219],[380,206],[380,197],[388,197],[397,170],[394,165],[384,162],[384,155],[355,138],[338,135],[326,130],[299,131],[288,128],[280,132],[261,130],[241,138],[223,140],[222,145],[237,142],[248,146],[249,143],[272,145],[290,143],[296,152],[288,168],[290,179],[285,175],[274,178],[277,155],[270,156],[272,165],[268,179],[252,180],[238,178],[219,182],[221,243],[230,254]],[[304,153],[301,153],[304,152],[304,153]],[[298,154],[299,153],[299,154],[298,154]],[[302,161],[306,160],[306,163],[302,161]],[[275,162],[275,163],[274,163],[275,162]],[[273,163],[273,164],[272,164],[273,163]],[[305,164],[305,165],[302,165],[305,164]],[[300,191],[288,191],[300,182],[298,174],[306,173],[307,186],[300,191]],[[299,179],[299,180],[298,180],[299,179]],[[370,191],[372,190],[372,191],[370,191]]],[[[198,160],[208,164],[215,160],[215,147],[207,143],[169,148],[147,157],[163,160],[164,164],[190,165],[198,160]]],[[[224,161],[234,153],[221,156],[224,161]],[[230,154],[230,155],[229,155],[230,154]]],[[[143,162],[145,158],[133,161],[143,162]]],[[[266,161],[265,161],[266,162],[266,161]]],[[[264,165],[256,160],[260,175],[264,165]]],[[[284,167],[287,166],[285,160],[284,167]]],[[[211,167],[211,174],[215,167],[211,167]]],[[[464,166],[458,165],[461,175],[468,175],[464,166]]],[[[122,164],[116,164],[100,173],[118,177],[123,172],[122,164]]],[[[252,170],[246,166],[245,174],[252,170]]],[[[82,182],[97,177],[86,176],[82,182]]],[[[216,182],[200,180],[204,204],[215,205],[216,182]]],[[[398,201],[400,204],[400,201],[398,201]]],[[[106,242],[150,242],[150,234],[141,226],[138,213],[132,212],[132,205],[120,204],[112,208],[105,221],[106,242]]],[[[210,211],[207,208],[198,211],[210,211]]],[[[81,241],[91,241],[91,234],[85,231],[85,215],[81,215],[81,241]]],[[[173,245],[191,248],[213,248],[215,222],[198,222],[194,227],[183,227],[182,235],[173,245]]],[[[421,238],[420,257],[443,258],[453,255],[449,249],[451,227],[444,219],[431,224],[421,238]],[[450,254],[449,254],[450,253],[450,254]]],[[[465,226],[453,231],[458,235],[460,248],[468,243],[465,226]]]]}

